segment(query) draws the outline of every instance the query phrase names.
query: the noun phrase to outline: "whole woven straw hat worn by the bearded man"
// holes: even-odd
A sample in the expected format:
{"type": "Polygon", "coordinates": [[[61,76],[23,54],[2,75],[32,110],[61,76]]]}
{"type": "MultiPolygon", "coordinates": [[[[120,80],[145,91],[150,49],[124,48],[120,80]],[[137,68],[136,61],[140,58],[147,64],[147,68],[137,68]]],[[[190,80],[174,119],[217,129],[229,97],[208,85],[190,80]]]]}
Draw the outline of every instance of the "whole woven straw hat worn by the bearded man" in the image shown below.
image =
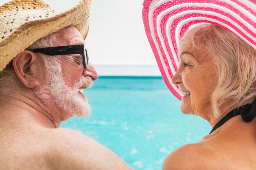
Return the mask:
{"type": "Polygon", "coordinates": [[[72,9],[57,13],[42,0],[13,0],[0,7],[0,71],[18,53],[36,40],[75,26],[83,38],[89,28],[91,0],[82,0],[72,9]]]}

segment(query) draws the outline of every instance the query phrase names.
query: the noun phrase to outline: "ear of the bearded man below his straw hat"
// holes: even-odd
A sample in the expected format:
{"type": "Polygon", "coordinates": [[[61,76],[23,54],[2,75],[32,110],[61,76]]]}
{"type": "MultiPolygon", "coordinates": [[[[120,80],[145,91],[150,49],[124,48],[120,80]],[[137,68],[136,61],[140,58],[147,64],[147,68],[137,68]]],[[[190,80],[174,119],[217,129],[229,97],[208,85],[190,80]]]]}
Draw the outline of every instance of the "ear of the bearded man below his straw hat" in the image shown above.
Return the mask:
{"type": "MultiPolygon", "coordinates": [[[[38,81],[35,76],[35,70],[31,69],[36,62],[35,53],[24,50],[13,58],[13,68],[20,81],[27,88],[34,88],[38,85],[38,81]]],[[[35,68],[35,67],[33,67],[35,68]]]]}

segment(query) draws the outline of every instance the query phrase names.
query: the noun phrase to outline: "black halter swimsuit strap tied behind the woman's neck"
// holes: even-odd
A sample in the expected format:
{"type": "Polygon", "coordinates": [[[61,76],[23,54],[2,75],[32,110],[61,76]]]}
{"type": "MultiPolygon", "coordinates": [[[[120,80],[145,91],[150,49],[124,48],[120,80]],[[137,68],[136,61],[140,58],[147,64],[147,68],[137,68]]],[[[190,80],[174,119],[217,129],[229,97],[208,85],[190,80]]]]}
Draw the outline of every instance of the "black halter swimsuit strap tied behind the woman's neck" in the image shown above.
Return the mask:
{"type": "Polygon", "coordinates": [[[232,117],[241,115],[242,119],[245,122],[250,122],[256,117],[256,100],[252,104],[246,104],[239,108],[236,108],[229,112],[225,117],[223,117],[211,130],[209,134],[211,134],[214,130],[223,125],[226,121],[231,119],[232,117]]]}

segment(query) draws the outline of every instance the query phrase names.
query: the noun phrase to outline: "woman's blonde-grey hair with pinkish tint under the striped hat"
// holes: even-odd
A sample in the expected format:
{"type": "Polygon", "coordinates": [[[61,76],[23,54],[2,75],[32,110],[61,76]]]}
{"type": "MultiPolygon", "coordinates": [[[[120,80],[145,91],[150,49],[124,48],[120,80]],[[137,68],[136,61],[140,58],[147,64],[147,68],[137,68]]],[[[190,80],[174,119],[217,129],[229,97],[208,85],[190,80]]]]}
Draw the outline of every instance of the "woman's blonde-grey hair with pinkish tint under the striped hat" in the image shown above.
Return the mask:
{"type": "Polygon", "coordinates": [[[211,108],[220,118],[220,108],[234,109],[256,99],[256,51],[233,33],[213,24],[187,31],[179,48],[203,50],[216,64],[218,83],[211,96],[211,108]]]}

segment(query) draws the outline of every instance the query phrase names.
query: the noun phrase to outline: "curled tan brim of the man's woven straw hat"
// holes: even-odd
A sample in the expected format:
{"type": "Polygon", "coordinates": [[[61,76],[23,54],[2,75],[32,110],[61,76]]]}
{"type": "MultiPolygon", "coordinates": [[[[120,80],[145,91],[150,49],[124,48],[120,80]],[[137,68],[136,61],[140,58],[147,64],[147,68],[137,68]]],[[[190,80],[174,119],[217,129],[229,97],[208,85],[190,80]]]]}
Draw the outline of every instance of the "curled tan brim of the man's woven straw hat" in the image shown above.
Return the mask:
{"type": "MultiPolygon", "coordinates": [[[[18,0],[15,0],[13,2],[17,3],[17,1],[18,0]]],[[[25,0],[25,2],[27,1],[29,0],[25,0]]],[[[13,57],[33,44],[36,40],[44,38],[67,26],[75,26],[85,39],[89,29],[90,5],[91,0],[82,0],[68,11],[57,14],[56,11],[52,10],[54,15],[51,17],[21,23],[13,28],[14,31],[0,42],[0,71],[5,68],[13,57]]],[[[47,4],[46,7],[48,8],[47,4]]],[[[1,16],[2,11],[0,11],[0,17],[3,17],[1,16]]],[[[1,24],[2,26],[0,27],[4,29],[4,23],[1,24]]]]}

